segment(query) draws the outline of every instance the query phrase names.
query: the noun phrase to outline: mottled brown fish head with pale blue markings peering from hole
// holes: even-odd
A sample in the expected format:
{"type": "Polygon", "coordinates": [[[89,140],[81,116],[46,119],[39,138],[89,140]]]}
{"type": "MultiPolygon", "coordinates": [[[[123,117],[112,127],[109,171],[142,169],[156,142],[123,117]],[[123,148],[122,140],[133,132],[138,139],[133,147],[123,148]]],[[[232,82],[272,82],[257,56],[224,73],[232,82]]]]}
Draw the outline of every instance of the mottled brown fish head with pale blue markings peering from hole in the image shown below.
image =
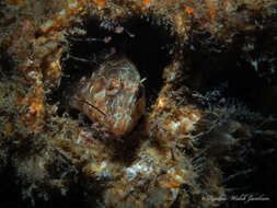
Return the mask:
{"type": "Polygon", "coordinates": [[[82,78],[69,105],[114,135],[128,134],[146,109],[146,91],[136,66],[115,55],[82,78]]]}

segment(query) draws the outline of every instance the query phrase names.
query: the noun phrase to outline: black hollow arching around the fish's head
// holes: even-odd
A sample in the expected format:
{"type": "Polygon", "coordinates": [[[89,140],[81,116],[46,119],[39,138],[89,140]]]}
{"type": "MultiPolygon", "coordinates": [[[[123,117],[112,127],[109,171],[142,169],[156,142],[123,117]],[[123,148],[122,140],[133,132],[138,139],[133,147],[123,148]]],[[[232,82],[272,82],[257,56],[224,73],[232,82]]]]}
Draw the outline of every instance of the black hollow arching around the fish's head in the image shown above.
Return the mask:
{"type": "MultiPolygon", "coordinates": [[[[69,112],[72,117],[77,118],[78,111],[67,108],[66,97],[81,77],[89,77],[104,61],[105,55],[108,55],[112,48],[127,56],[136,65],[141,79],[147,79],[143,84],[147,92],[147,106],[150,107],[163,84],[163,69],[172,60],[175,44],[174,36],[170,34],[171,28],[157,26],[153,22],[154,18],[135,16],[122,23],[119,27],[124,31],[116,33],[116,26],[111,25],[112,23],[103,26],[103,23],[90,19],[80,26],[86,31],[85,35],[68,36],[70,49],[61,61],[64,76],[59,88],[48,96],[49,103],[59,102],[58,115],[69,112]],[[104,43],[103,39],[107,37],[112,38],[108,43],[104,43]],[[80,61],[78,58],[90,61],[80,61]]],[[[88,118],[84,120],[89,122],[88,118]]]]}

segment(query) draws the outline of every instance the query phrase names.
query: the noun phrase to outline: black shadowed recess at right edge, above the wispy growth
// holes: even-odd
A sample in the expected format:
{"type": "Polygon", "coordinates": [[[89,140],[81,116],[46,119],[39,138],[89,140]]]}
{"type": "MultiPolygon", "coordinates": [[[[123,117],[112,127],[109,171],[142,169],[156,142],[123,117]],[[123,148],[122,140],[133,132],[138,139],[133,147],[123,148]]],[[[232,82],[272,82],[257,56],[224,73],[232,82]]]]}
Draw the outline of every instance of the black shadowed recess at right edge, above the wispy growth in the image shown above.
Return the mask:
{"type": "MultiPolygon", "coordinates": [[[[259,112],[265,115],[277,114],[276,104],[276,72],[267,73],[270,68],[276,68],[277,61],[269,62],[257,61],[258,70],[255,69],[255,62],[251,62],[249,56],[263,56],[268,53],[268,47],[275,41],[268,42],[266,34],[252,34],[255,41],[255,49],[251,53],[242,50],[245,44],[245,37],[238,37],[238,41],[228,46],[228,49],[220,43],[210,42],[207,37],[197,38],[194,36],[192,43],[187,44],[185,55],[191,62],[192,76],[185,84],[200,92],[203,95],[212,94],[217,91],[220,95],[215,99],[212,105],[218,105],[221,99],[236,100],[249,109],[259,112]],[[205,44],[203,44],[207,38],[205,44]],[[199,41],[201,39],[201,42],[199,41]],[[264,41],[265,39],[265,41],[264,41]],[[193,45],[193,47],[192,47],[193,45]],[[269,45],[269,46],[268,46],[269,45]],[[264,72],[264,74],[261,74],[264,72]],[[267,74],[266,74],[267,73],[267,74]],[[268,81],[270,78],[272,82],[268,81]]],[[[277,50],[270,56],[277,55],[277,50]]]]}

